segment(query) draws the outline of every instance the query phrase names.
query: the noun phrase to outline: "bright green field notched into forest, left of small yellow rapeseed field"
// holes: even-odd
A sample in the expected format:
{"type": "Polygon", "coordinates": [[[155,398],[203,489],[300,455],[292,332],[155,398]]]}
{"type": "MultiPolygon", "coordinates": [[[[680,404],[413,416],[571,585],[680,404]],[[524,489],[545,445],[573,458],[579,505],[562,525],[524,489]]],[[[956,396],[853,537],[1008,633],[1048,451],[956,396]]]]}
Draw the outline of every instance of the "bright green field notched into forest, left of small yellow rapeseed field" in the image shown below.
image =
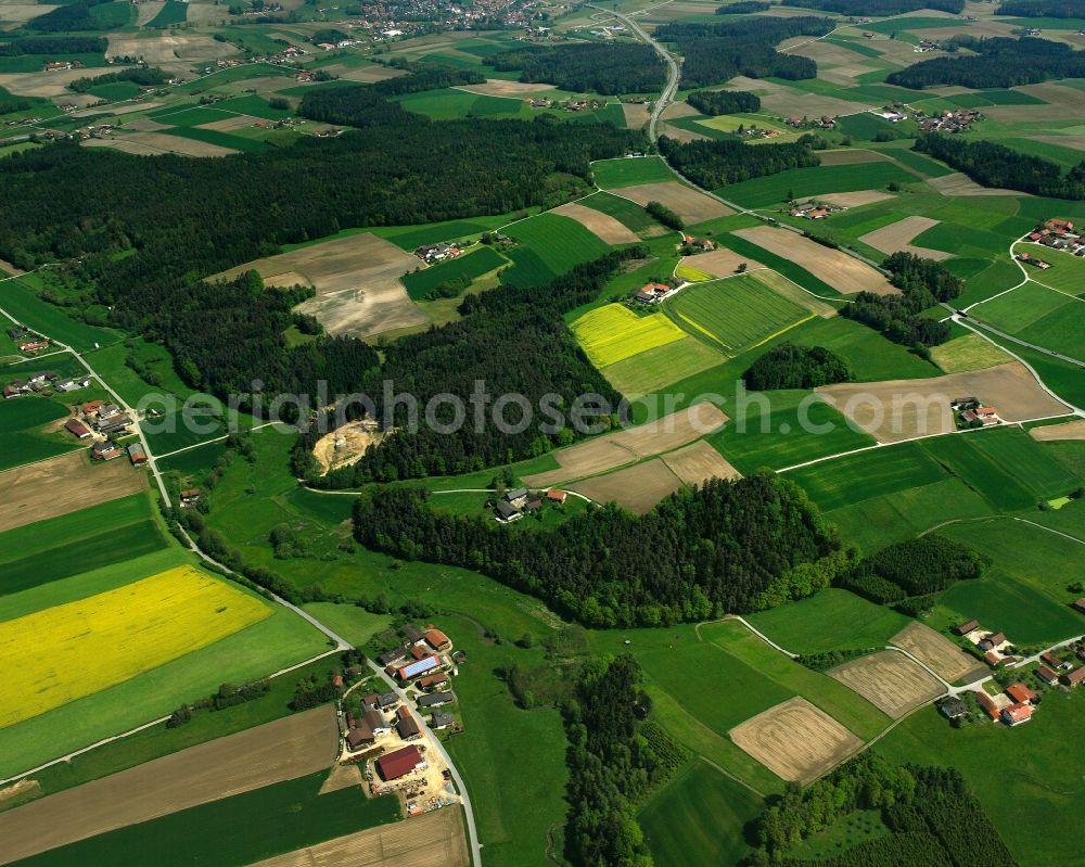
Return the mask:
{"type": "Polygon", "coordinates": [[[507,285],[547,283],[610,250],[576,220],[557,214],[539,214],[509,226],[505,233],[520,242],[509,254],[513,267],[501,277],[507,285]]]}

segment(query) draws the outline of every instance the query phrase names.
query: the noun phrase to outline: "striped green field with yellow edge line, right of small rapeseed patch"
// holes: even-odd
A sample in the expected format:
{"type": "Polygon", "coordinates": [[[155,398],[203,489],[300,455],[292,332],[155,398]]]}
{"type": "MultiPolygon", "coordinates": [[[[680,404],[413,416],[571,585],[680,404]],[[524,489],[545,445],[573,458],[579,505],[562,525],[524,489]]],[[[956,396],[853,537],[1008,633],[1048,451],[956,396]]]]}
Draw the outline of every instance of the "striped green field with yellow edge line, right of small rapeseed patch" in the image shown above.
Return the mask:
{"type": "Polygon", "coordinates": [[[729,355],[813,316],[752,275],[689,286],[664,309],[694,337],[729,355]]]}

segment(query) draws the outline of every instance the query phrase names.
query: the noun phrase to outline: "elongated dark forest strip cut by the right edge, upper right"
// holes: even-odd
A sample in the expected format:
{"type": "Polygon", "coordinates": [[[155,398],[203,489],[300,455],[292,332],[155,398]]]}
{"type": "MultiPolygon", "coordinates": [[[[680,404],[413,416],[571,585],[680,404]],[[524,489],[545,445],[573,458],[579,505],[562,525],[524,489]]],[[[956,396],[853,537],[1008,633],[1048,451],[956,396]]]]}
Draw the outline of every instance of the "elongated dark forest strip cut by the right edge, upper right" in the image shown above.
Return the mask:
{"type": "Polygon", "coordinates": [[[984,187],[1006,187],[1051,199],[1085,199],[1085,162],[1065,175],[1042,156],[1014,151],[994,141],[920,133],[915,150],[963,171],[984,187]]]}

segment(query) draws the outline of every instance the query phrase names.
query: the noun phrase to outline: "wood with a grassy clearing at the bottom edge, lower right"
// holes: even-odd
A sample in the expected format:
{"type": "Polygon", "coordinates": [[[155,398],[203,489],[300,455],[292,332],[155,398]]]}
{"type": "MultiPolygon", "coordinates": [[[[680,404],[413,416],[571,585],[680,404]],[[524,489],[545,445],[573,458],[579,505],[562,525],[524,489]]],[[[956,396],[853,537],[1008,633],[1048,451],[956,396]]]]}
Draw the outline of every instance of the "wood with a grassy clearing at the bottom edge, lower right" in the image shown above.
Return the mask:
{"type": "Polygon", "coordinates": [[[802,790],[789,786],[756,823],[760,847],[743,867],[1017,867],[983,806],[954,768],[895,766],[865,752],[802,790]],[[809,860],[787,852],[857,809],[877,809],[891,833],[809,860]]]}

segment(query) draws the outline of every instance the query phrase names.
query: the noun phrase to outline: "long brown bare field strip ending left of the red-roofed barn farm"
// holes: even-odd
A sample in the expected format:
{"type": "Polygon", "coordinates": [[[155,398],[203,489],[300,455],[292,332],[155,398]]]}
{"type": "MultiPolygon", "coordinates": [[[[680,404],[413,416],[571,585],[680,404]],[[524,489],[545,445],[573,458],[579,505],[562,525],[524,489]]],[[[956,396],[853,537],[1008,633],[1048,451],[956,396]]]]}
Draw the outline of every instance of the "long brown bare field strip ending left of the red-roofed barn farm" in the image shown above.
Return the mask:
{"type": "Polygon", "coordinates": [[[330,705],[202,743],[0,813],[0,864],[330,767],[330,705]]]}

